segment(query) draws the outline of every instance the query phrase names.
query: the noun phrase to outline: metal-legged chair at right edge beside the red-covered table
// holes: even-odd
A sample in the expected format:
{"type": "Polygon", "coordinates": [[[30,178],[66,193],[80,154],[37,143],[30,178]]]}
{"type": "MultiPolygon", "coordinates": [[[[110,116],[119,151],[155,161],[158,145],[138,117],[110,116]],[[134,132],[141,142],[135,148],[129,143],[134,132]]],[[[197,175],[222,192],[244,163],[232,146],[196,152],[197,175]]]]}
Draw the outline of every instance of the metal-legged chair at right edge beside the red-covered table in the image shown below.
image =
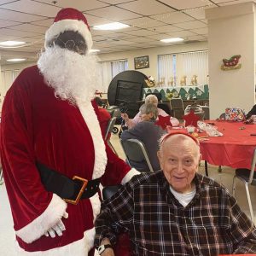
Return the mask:
{"type": "Polygon", "coordinates": [[[247,201],[250,209],[251,219],[253,221],[253,206],[250,196],[250,191],[248,185],[256,186],[256,172],[254,172],[256,164],[256,148],[253,152],[252,166],[251,170],[249,169],[236,169],[236,175],[233,178],[232,191],[233,196],[236,194],[236,179],[240,179],[242,183],[245,185],[246,193],[247,193],[247,201]]]}

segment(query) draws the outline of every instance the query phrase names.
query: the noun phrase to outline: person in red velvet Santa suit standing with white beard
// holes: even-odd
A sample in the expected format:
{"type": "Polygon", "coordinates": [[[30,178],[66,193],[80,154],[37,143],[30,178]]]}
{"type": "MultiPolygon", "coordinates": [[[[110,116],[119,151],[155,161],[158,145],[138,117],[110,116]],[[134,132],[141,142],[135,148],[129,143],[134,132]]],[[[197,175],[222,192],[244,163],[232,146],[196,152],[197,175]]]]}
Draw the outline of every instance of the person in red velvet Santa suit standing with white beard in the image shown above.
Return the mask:
{"type": "Polygon", "coordinates": [[[137,173],[103,141],[91,46],[84,15],[62,9],[38,65],[5,97],[1,157],[19,255],[93,255],[99,183],[137,173]]]}

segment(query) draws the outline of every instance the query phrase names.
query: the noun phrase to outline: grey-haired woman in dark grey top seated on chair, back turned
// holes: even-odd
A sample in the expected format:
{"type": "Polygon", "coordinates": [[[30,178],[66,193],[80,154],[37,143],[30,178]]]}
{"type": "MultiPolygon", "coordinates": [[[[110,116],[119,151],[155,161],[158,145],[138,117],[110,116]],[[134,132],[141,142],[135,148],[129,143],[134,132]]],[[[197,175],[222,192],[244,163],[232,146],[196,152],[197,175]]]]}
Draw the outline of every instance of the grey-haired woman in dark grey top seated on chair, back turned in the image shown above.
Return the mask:
{"type": "MultiPolygon", "coordinates": [[[[160,163],[157,158],[157,151],[159,149],[160,137],[166,133],[159,125],[154,125],[154,122],[158,116],[158,110],[154,104],[143,104],[140,108],[141,122],[135,125],[133,128],[122,132],[121,139],[123,141],[128,139],[138,139],[143,142],[148,152],[148,158],[154,169],[160,170],[160,163]]],[[[135,167],[137,171],[148,172],[148,165],[144,162],[131,162],[132,167],[135,167]]]]}

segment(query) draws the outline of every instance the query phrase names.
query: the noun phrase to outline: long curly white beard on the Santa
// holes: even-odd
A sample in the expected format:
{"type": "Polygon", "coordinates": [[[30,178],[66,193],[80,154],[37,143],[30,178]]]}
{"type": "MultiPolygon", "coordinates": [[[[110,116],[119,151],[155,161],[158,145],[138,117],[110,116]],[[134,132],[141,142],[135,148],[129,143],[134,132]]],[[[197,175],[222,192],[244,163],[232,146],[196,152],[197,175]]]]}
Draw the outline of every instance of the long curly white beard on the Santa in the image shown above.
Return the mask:
{"type": "Polygon", "coordinates": [[[96,55],[79,55],[53,46],[38,59],[38,68],[55,96],[72,104],[88,104],[99,90],[100,68],[96,55]]]}

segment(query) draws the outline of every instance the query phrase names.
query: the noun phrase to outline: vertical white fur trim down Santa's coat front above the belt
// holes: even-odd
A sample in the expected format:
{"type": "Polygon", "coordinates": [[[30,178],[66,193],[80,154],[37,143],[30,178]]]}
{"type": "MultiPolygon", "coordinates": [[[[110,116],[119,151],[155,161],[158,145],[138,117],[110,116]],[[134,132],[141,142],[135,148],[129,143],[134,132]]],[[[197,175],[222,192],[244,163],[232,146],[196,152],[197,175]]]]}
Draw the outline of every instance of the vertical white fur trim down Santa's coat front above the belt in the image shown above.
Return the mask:
{"type": "Polygon", "coordinates": [[[92,137],[94,151],[95,151],[95,161],[94,169],[92,174],[92,179],[102,177],[107,166],[107,154],[104,140],[102,138],[102,131],[97,119],[94,108],[91,103],[85,105],[84,102],[78,102],[79,110],[84,118],[86,125],[90,131],[92,137]]]}

